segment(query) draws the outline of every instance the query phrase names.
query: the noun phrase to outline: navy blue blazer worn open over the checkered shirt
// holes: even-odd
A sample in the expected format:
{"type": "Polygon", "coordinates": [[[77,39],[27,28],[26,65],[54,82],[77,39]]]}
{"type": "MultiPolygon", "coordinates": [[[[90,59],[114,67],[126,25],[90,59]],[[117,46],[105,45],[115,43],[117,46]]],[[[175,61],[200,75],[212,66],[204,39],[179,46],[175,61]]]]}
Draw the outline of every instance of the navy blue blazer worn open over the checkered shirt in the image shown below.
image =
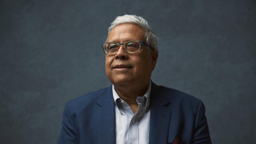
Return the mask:
{"type": "MultiPolygon", "coordinates": [[[[150,144],[211,143],[201,100],[152,83],[150,144]],[[177,142],[177,139],[179,142],[177,142]]],[[[112,86],[69,101],[58,144],[114,144],[115,103],[112,86]]]]}

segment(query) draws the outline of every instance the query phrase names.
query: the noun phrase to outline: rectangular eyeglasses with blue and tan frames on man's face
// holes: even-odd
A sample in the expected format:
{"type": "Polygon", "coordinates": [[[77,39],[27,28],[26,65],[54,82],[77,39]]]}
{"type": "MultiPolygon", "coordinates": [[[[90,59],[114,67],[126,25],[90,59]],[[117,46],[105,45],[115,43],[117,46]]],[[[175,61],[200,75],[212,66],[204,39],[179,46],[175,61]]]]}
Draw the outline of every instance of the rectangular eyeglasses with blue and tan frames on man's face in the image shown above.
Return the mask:
{"type": "Polygon", "coordinates": [[[125,51],[128,53],[138,52],[142,45],[152,48],[146,42],[138,40],[131,40],[125,43],[105,43],[101,44],[101,47],[103,48],[105,54],[116,54],[121,45],[124,46],[125,51]]]}

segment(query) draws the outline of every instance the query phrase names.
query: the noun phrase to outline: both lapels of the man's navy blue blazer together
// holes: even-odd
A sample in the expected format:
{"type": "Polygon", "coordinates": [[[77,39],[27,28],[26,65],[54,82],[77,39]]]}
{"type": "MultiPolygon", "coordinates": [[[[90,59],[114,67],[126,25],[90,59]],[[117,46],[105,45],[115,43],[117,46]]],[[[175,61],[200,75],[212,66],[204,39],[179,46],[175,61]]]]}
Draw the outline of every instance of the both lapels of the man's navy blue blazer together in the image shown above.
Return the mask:
{"type": "MultiPolygon", "coordinates": [[[[116,143],[115,137],[115,102],[112,86],[99,94],[96,104],[101,118],[95,119],[100,126],[98,128],[99,143],[116,143]]],[[[160,86],[152,82],[150,94],[150,134],[149,143],[166,143],[168,138],[172,108],[170,97],[165,94],[160,86]]]]}

